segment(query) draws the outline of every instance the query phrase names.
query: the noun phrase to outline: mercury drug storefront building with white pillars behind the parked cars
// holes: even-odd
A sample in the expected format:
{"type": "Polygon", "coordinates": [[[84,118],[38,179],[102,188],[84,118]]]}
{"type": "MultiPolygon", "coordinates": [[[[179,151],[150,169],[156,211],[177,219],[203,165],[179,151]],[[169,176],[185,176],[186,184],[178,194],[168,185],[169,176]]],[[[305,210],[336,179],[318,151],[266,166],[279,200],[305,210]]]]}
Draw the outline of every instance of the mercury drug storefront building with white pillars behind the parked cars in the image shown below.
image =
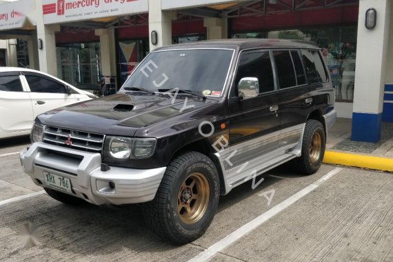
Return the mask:
{"type": "Polygon", "coordinates": [[[102,77],[119,87],[150,50],[172,43],[301,39],[321,48],[338,115],[353,118],[352,139],[378,141],[381,121],[393,121],[389,0],[19,0],[1,6],[19,14],[17,23],[0,19],[0,38],[27,43],[20,65],[78,88],[97,88],[102,77]],[[367,29],[370,8],[376,26],[367,29]]]}

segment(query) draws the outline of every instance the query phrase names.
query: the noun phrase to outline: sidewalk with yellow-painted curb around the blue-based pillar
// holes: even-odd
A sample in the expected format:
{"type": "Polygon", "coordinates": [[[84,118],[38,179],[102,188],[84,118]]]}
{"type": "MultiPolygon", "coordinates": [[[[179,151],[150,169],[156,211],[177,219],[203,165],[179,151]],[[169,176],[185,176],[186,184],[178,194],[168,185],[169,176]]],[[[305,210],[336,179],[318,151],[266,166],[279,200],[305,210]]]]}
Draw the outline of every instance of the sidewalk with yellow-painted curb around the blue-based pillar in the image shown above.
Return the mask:
{"type": "Polygon", "coordinates": [[[393,172],[393,123],[383,123],[378,143],[351,140],[352,119],[338,118],[328,132],[323,162],[393,172]]]}

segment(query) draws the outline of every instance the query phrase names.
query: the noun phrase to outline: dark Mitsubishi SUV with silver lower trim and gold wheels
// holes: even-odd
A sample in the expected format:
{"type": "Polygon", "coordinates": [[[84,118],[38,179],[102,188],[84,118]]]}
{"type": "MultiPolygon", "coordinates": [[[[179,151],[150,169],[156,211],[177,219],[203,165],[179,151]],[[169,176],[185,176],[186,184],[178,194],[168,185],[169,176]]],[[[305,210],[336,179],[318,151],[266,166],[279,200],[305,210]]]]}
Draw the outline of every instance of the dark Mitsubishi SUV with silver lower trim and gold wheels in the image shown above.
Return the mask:
{"type": "Polygon", "coordinates": [[[58,201],[144,203],[154,232],[188,243],[232,188],[288,161],[316,172],[335,119],[313,43],[190,43],[154,50],[117,94],[41,114],[20,159],[58,201]]]}

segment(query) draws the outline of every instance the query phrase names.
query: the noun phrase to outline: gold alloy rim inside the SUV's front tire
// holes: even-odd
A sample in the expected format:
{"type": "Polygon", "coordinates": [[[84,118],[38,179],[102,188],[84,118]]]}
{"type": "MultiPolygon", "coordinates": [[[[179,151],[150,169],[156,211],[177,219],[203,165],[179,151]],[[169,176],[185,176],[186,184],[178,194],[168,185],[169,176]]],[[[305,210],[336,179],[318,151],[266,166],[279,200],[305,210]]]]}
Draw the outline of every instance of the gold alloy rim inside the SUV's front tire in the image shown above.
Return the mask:
{"type": "Polygon", "coordinates": [[[190,174],[181,185],[177,196],[177,213],[183,223],[199,221],[208,209],[210,187],[201,173],[190,174]]]}

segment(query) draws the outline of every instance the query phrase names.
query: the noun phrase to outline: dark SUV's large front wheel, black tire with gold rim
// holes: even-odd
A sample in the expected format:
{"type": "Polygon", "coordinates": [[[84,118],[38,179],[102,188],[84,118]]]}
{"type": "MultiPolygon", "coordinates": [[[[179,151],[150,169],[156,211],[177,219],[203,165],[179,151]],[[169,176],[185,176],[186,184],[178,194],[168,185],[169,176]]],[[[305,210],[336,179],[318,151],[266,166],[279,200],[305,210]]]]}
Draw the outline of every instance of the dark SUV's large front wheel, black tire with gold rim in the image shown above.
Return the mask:
{"type": "Polygon", "coordinates": [[[199,152],[186,152],[170,163],[156,196],[143,205],[143,215],[161,238],[190,243],[208,229],[219,195],[219,174],[212,160],[199,152]]]}

